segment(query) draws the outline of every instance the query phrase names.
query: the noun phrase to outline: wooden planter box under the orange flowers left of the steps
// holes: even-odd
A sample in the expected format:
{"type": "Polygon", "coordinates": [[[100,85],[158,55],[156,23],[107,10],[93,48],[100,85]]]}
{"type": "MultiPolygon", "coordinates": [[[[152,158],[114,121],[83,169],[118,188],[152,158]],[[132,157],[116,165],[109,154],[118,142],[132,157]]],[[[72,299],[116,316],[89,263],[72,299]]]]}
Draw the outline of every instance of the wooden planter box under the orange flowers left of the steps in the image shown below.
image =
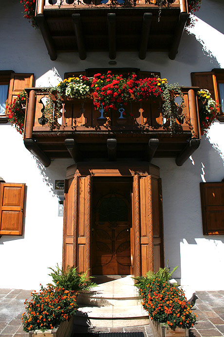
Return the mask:
{"type": "Polygon", "coordinates": [[[70,321],[66,320],[61,322],[60,325],[52,330],[47,330],[45,332],[41,331],[30,331],[29,337],[71,337],[73,334],[74,327],[74,316],[70,321]]]}

